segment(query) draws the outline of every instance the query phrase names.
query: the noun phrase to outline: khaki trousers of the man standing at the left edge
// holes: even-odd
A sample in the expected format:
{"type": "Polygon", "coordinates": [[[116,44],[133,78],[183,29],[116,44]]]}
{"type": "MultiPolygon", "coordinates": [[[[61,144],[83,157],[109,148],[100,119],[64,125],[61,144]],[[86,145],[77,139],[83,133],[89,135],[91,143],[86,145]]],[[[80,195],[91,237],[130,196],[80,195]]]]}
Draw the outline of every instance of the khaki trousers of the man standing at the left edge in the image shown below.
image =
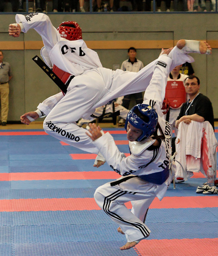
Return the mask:
{"type": "Polygon", "coordinates": [[[0,84],[0,99],[1,99],[1,122],[7,122],[8,114],[8,95],[9,95],[9,83],[0,84]]]}

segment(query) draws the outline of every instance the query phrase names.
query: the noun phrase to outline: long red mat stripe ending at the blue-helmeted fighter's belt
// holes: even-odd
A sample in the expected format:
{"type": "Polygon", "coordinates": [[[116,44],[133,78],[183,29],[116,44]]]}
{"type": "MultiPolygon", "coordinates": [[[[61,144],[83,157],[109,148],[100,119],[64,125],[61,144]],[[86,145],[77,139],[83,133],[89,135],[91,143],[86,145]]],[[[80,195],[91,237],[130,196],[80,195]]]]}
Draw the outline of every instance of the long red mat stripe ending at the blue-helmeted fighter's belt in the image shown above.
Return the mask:
{"type": "Polygon", "coordinates": [[[118,179],[114,171],[100,172],[54,172],[54,173],[0,173],[0,181],[45,181],[45,180],[104,180],[118,179]]]}

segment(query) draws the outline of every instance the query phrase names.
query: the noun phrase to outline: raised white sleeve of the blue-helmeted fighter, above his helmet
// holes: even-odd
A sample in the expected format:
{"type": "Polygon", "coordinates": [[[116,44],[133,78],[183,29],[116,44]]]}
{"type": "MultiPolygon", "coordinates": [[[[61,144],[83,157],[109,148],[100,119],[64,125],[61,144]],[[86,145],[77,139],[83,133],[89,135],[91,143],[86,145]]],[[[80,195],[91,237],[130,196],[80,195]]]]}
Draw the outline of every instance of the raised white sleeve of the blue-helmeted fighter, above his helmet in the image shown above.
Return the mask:
{"type": "Polygon", "coordinates": [[[152,76],[152,79],[144,94],[143,104],[152,105],[155,102],[155,105],[152,105],[152,107],[155,107],[157,113],[161,116],[162,102],[165,97],[167,78],[169,75],[169,68],[171,63],[172,60],[168,56],[159,56],[154,67],[155,75],[152,76]]]}

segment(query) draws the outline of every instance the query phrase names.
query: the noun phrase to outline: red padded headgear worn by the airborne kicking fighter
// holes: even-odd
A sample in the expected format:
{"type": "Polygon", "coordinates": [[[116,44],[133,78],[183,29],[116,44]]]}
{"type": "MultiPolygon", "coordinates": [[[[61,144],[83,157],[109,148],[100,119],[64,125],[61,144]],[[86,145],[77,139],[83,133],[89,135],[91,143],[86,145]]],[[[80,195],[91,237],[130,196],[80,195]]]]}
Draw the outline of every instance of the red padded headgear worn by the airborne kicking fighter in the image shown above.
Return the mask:
{"type": "Polygon", "coordinates": [[[62,38],[67,40],[79,40],[82,39],[82,30],[76,22],[63,22],[57,28],[62,38]]]}

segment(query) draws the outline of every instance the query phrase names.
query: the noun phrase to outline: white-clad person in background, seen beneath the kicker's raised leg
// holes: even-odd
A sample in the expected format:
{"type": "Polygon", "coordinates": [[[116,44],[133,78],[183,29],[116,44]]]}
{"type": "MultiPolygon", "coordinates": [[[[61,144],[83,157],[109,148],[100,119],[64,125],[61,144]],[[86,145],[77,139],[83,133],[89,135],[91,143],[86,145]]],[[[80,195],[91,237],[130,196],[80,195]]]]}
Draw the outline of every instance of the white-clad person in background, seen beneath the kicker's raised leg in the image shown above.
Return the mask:
{"type": "MultiPolygon", "coordinates": [[[[129,110],[118,104],[115,100],[111,100],[106,105],[96,108],[95,113],[93,113],[93,115],[98,116],[99,118],[103,118],[106,114],[114,113],[116,111],[120,111],[121,118],[123,118],[124,120],[127,119],[127,114],[129,113],[129,110]]],[[[94,119],[96,118],[93,117],[90,120],[81,118],[78,121],[77,125],[79,127],[82,127],[82,125],[88,124],[94,119]]]]}

